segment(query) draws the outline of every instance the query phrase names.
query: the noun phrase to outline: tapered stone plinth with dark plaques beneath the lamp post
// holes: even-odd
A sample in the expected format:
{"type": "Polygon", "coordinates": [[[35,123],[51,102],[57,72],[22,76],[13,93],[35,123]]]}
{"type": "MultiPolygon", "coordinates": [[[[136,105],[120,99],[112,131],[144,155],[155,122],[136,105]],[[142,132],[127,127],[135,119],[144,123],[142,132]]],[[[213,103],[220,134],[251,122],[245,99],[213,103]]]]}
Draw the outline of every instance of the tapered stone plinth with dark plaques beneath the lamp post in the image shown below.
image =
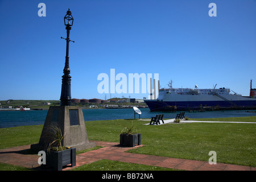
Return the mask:
{"type": "Polygon", "coordinates": [[[77,151],[96,146],[89,142],[84,115],[79,106],[50,106],[38,144],[32,144],[35,151],[44,150],[49,143],[49,126],[60,127],[64,134],[63,146],[76,148],[77,151]]]}

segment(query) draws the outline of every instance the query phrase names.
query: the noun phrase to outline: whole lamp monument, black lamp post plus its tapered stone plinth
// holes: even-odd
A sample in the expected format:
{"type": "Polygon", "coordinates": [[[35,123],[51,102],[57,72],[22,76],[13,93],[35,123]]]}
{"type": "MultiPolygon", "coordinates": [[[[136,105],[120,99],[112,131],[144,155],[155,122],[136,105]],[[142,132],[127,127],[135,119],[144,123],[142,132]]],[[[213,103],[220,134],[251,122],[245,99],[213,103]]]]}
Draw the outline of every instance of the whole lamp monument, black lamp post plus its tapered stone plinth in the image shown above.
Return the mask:
{"type": "Polygon", "coordinates": [[[60,106],[49,107],[39,143],[31,144],[30,146],[32,150],[37,152],[46,150],[46,146],[49,144],[48,129],[51,128],[52,125],[58,126],[61,133],[65,134],[61,142],[63,146],[76,148],[77,151],[96,146],[95,142],[89,142],[82,107],[71,106],[71,76],[69,76],[68,49],[69,42],[73,42],[69,39],[69,33],[73,25],[73,16],[69,9],[64,17],[64,23],[67,30],[67,38],[61,37],[61,39],[67,40],[67,51],[63,70],[64,75],[62,76],[60,106]]]}

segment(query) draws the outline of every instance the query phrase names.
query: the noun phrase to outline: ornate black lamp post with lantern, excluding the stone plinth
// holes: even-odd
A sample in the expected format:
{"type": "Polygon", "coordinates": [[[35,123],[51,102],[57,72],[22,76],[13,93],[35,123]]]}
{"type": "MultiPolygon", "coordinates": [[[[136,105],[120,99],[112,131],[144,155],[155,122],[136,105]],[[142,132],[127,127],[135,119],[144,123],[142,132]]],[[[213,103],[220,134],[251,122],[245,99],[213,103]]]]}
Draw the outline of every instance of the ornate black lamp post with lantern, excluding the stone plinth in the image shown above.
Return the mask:
{"type": "Polygon", "coordinates": [[[62,85],[61,85],[61,95],[60,95],[60,106],[71,106],[71,76],[69,75],[69,42],[74,42],[69,39],[69,33],[71,26],[73,25],[73,16],[71,15],[70,9],[68,9],[67,14],[64,16],[64,23],[67,30],[67,38],[61,37],[61,39],[67,40],[67,49],[66,49],[66,59],[65,67],[63,69],[64,75],[62,76],[62,85]]]}

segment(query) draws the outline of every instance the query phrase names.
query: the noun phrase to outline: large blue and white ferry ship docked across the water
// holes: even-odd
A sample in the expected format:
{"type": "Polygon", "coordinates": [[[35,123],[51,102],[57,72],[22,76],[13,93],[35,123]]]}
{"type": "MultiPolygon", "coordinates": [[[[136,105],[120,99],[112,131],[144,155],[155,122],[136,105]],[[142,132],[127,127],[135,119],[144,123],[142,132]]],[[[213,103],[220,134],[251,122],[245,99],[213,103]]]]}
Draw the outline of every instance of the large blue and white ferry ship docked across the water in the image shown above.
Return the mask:
{"type": "MultiPolygon", "coordinates": [[[[252,83],[252,80],[251,80],[252,83]]],[[[216,84],[217,85],[217,84],[216,84]]],[[[192,111],[192,110],[244,110],[256,109],[256,89],[251,88],[250,96],[242,96],[229,88],[200,89],[168,88],[159,89],[157,99],[144,100],[150,111],[192,111]]]]}

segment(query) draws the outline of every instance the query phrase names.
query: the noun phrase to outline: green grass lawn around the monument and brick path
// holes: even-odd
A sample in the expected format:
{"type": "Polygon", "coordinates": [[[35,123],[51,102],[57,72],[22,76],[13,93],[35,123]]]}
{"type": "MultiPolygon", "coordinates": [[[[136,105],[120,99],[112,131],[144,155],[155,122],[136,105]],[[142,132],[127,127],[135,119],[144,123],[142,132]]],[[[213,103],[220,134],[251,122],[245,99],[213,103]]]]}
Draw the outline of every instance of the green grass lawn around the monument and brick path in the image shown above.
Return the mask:
{"type": "MultiPolygon", "coordinates": [[[[256,122],[256,117],[193,119],[202,121],[256,122]]],[[[209,151],[216,151],[217,163],[229,163],[256,167],[256,124],[254,123],[170,123],[148,126],[134,119],[85,122],[90,140],[119,142],[119,133],[125,126],[134,123],[142,135],[142,144],[129,152],[167,156],[171,158],[208,161],[209,151]]],[[[43,126],[21,126],[0,129],[0,148],[38,143],[43,126]]],[[[101,167],[112,161],[101,160],[101,167]]],[[[95,170],[100,170],[98,163],[95,170]]],[[[118,162],[119,163],[119,162],[118,162]]],[[[114,164],[113,164],[114,165],[114,164]]],[[[123,165],[122,163],[118,165],[123,165]]],[[[127,164],[130,168],[133,164],[127,164]]],[[[80,168],[87,170],[88,166],[80,168]]],[[[92,166],[90,166],[92,167],[92,166]]],[[[106,169],[105,168],[105,169],[106,169]]],[[[127,168],[127,167],[126,167],[127,168]]],[[[142,166],[142,169],[144,166],[142,166]]],[[[1,169],[1,166],[0,166],[1,169]]],[[[122,170],[122,167],[120,167],[122,170]]],[[[148,170],[145,167],[145,170],[148,170]]],[[[156,169],[157,170],[157,169],[156,169]]]]}

